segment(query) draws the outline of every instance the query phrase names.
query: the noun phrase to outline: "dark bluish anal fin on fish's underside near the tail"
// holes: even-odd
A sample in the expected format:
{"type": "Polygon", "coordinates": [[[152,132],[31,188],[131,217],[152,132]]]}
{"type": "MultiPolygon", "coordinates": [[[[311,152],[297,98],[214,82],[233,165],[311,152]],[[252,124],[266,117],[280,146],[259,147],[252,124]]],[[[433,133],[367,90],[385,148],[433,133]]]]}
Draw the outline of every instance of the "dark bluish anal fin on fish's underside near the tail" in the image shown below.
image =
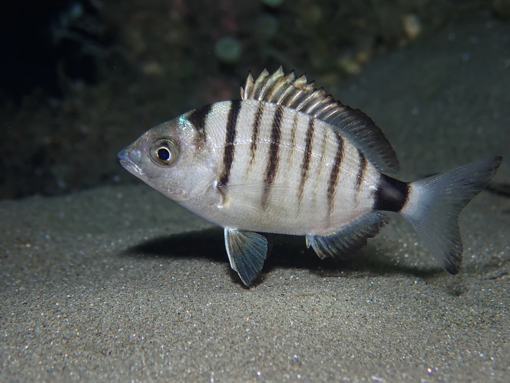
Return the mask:
{"type": "Polygon", "coordinates": [[[346,256],[365,247],[368,238],[375,237],[387,223],[388,217],[385,214],[371,211],[344,225],[333,235],[307,235],[307,247],[312,246],[321,259],[346,256]]]}

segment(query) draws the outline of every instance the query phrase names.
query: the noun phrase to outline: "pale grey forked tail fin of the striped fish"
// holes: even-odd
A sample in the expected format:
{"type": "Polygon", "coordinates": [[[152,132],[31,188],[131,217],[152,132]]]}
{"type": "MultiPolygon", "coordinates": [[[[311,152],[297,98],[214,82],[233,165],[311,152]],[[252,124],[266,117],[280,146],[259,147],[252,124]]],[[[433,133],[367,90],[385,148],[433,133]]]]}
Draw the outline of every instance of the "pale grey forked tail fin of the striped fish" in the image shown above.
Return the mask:
{"type": "Polygon", "coordinates": [[[450,274],[458,274],[462,265],[458,214],[487,186],[502,159],[494,157],[474,162],[410,185],[409,198],[400,213],[450,274]]]}

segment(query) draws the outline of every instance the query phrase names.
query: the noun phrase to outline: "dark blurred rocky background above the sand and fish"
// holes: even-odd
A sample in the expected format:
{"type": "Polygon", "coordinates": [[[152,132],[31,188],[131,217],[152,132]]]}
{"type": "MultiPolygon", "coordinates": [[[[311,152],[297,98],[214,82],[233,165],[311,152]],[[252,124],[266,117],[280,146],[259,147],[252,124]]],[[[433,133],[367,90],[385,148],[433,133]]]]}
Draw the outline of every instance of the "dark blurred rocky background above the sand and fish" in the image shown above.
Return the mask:
{"type": "Polygon", "coordinates": [[[239,98],[248,70],[283,64],[334,93],[448,23],[510,17],[507,0],[3,4],[0,198],[10,199],[138,182],[117,152],[186,110],[239,98]]]}

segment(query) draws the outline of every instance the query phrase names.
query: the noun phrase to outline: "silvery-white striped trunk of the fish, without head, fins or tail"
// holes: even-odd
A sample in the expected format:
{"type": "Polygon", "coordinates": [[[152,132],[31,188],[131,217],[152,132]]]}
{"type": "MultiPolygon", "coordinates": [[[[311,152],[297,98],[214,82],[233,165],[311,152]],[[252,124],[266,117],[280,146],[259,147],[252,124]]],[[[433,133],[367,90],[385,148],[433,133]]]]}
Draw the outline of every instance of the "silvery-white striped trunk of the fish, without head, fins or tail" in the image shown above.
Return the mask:
{"type": "Polygon", "coordinates": [[[211,222],[330,235],[372,208],[379,172],[347,138],[308,114],[264,101],[225,101],[212,105],[205,126],[214,177],[202,196],[182,204],[211,222]],[[234,132],[228,146],[227,129],[234,132]]]}

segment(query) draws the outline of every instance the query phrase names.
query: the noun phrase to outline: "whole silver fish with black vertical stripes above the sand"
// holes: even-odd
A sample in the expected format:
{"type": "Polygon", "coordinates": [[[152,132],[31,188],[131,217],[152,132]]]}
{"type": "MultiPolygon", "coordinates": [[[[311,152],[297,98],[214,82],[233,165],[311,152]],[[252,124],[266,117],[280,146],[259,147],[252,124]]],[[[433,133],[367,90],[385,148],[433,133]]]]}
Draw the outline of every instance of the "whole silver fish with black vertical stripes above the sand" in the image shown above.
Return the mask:
{"type": "Polygon", "coordinates": [[[251,73],[241,99],[188,111],[149,129],[119,154],[128,172],[224,229],[230,265],[250,286],[268,235],[305,237],[342,258],[398,213],[450,274],[463,261],[458,215],[494,177],[493,157],[414,182],[396,178],[396,153],[359,109],[305,75],[251,73]]]}

